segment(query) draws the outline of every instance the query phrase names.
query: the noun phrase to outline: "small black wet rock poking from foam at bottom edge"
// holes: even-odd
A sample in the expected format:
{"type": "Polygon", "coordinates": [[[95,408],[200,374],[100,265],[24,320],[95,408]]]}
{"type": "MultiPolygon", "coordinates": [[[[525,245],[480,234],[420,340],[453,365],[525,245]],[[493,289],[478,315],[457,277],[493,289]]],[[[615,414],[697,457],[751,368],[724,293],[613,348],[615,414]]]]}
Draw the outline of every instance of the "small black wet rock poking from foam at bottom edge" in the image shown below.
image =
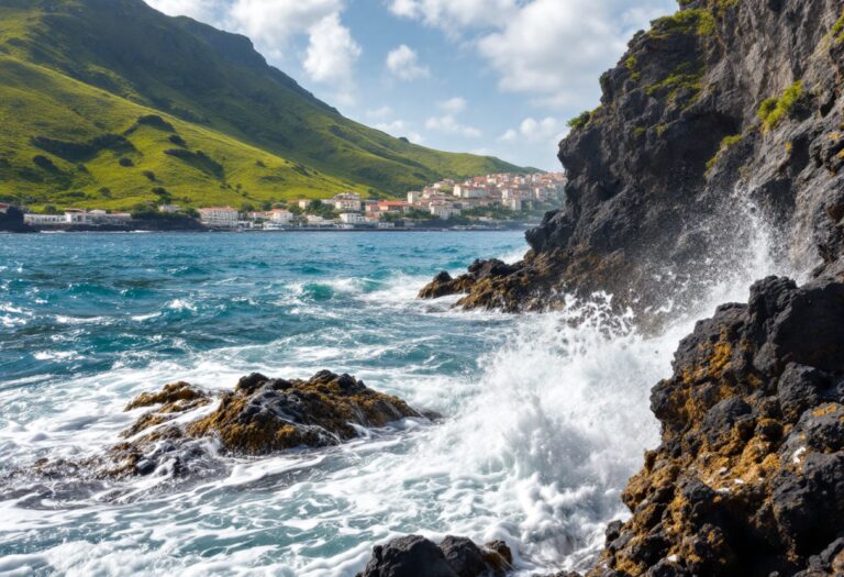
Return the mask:
{"type": "Polygon", "coordinates": [[[357,577],[498,577],[512,568],[512,562],[501,541],[479,547],[469,539],[447,536],[436,545],[408,535],[376,545],[357,577]]]}

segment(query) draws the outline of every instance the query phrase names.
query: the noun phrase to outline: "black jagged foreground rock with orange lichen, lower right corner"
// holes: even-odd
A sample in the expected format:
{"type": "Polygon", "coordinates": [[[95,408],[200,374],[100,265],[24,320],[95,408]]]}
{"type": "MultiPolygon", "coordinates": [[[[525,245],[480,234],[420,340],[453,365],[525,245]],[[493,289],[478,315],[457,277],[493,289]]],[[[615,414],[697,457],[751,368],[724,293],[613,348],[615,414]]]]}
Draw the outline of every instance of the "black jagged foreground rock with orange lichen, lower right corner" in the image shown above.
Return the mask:
{"type": "Polygon", "coordinates": [[[842,575],[844,284],[757,282],[652,391],[662,444],[592,577],[842,575]]]}

